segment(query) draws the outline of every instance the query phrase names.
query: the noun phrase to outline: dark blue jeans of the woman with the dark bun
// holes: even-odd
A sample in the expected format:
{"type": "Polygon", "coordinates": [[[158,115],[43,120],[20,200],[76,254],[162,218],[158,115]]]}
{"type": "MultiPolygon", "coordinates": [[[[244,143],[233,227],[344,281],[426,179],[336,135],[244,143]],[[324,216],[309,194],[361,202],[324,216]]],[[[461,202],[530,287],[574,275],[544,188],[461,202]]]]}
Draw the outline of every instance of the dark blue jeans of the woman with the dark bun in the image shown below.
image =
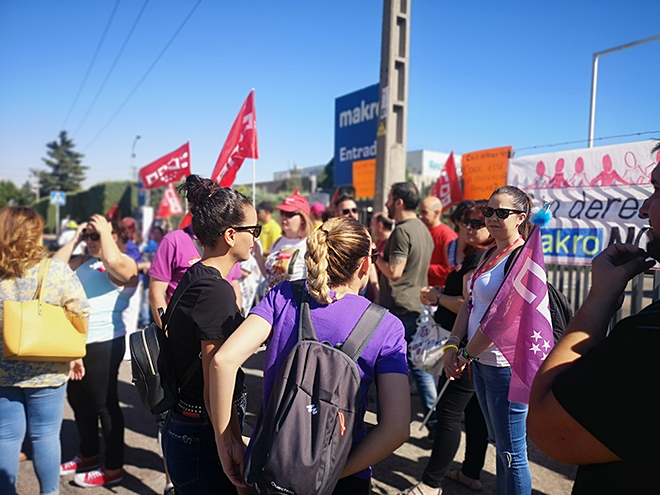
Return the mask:
{"type": "Polygon", "coordinates": [[[222,470],[213,425],[206,413],[190,418],[178,407],[168,411],[163,453],[177,495],[237,493],[222,470]]]}

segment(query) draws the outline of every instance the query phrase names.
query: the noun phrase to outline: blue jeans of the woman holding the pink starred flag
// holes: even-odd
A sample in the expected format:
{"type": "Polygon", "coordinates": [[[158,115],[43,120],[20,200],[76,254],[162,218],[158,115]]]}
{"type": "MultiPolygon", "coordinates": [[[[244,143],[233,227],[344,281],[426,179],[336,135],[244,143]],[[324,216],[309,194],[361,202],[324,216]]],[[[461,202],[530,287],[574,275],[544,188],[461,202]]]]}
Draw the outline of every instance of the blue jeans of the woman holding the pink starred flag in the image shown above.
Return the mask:
{"type": "Polygon", "coordinates": [[[529,495],[532,476],[527,461],[527,405],[508,399],[511,368],[475,361],[472,373],[488,436],[497,450],[497,494],[529,495]]]}

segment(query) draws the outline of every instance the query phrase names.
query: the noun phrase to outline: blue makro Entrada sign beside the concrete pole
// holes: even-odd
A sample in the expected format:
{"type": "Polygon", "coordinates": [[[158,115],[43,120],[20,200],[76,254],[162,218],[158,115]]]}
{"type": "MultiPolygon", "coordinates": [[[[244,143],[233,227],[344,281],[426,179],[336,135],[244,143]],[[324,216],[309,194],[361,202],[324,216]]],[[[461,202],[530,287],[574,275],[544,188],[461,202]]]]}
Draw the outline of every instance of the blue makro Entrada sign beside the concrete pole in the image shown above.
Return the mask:
{"type": "Polygon", "coordinates": [[[353,162],[376,158],[378,87],[335,99],[335,186],[353,183],[353,162]]]}

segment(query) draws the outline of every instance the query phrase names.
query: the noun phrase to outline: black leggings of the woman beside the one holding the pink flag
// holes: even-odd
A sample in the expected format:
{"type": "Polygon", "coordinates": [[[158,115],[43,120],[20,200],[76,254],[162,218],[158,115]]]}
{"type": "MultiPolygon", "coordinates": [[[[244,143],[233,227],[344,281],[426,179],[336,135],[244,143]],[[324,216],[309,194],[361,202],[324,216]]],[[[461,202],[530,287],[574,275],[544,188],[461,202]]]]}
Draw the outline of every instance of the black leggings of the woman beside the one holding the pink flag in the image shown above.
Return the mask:
{"type": "MultiPolygon", "coordinates": [[[[440,375],[438,389],[447,378],[440,375]]],[[[466,448],[461,471],[472,479],[479,479],[488,448],[488,428],[479,407],[474,384],[467,368],[458,380],[452,381],[437,407],[438,429],[422,481],[432,488],[440,488],[447,469],[454,460],[461,441],[461,418],[465,412],[466,448]]]]}

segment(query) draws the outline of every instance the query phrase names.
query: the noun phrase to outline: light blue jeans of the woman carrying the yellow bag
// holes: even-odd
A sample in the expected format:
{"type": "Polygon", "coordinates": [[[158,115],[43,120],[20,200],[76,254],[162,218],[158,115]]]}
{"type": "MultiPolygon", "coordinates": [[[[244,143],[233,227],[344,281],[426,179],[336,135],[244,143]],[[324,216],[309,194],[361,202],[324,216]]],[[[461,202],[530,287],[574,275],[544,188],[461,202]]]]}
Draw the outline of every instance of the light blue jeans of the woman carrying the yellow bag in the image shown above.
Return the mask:
{"type": "Polygon", "coordinates": [[[60,428],[66,387],[0,387],[0,493],[16,493],[18,456],[27,431],[42,494],[60,492],[60,428]]]}

